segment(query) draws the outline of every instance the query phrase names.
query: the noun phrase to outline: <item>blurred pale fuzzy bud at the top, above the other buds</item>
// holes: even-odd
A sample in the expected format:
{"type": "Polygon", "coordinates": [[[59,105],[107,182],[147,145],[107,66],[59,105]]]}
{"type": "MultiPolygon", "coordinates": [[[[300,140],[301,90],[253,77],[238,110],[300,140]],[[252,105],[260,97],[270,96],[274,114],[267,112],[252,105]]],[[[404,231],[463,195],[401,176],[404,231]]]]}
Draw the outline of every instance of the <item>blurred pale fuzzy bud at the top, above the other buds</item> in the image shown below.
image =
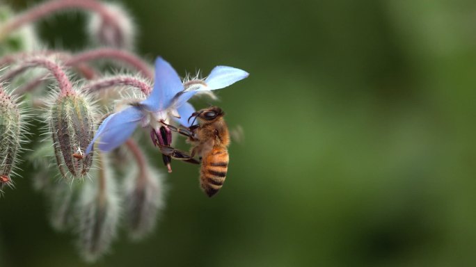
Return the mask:
{"type": "Polygon", "coordinates": [[[114,3],[104,3],[107,13],[90,17],[88,33],[99,44],[121,49],[134,46],[135,27],[127,11],[114,3]]]}

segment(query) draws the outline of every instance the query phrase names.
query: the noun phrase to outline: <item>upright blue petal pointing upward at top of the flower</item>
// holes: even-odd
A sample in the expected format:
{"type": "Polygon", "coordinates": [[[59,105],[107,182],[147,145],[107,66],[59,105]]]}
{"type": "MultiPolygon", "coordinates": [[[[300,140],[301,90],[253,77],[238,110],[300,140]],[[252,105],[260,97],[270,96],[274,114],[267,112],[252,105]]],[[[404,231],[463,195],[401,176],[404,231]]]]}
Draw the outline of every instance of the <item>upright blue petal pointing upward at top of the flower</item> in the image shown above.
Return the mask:
{"type": "Polygon", "coordinates": [[[159,57],[155,60],[154,88],[149,97],[141,104],[148,111],[157,112],[164,110],[170,106],[177,92],[182,90],[184,90],[184,86],[182,86],[182,81],[177,72],[164,58],[159,57]]]}

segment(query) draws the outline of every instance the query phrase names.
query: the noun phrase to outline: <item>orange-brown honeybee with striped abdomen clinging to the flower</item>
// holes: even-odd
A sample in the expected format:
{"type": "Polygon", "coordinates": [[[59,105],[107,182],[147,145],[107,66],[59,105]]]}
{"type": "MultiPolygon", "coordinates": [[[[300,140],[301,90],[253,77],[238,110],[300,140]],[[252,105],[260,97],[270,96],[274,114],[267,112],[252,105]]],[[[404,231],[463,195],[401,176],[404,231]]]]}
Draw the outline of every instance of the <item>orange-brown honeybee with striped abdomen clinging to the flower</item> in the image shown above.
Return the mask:
{"type": "Polygon", "coordinates": [[[212,106],[192,113],[189,118],[189,120],[193,118],[191,124],[193,125],[196,120],[198,120],[198,124],[188,129],[178,129],[162,122],[171,131],[187,136],[187,142],[192,147],[190,154],[186,154],[173,147],[160,146],[161,153],[189,163],[201,161],[200,187],[209,197],[215,195],[223,186],[230,161],[228,156],[230,133],[223,115],[225,113],[221,108],[212,106]],[[196,155],[200,161],[193,159],[196,155]]]}

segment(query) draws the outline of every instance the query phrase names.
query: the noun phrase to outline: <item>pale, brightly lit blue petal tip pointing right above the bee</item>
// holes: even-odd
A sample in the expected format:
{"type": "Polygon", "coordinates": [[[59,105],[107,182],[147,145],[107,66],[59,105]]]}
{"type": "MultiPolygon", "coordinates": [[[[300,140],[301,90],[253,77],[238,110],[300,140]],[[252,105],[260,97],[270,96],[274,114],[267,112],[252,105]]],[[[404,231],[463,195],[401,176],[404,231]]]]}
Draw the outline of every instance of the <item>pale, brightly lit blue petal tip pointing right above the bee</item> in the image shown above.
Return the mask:
{"type": "Polygon", "coordinates": [[[248,77],[248,75],[248,72],[235,67],[216,66],[212,72],[210,72],[207,79],[205,79],[207,88],[201,88],[200,90],[216,90],[225,88],[239,80],[245,79],[248,77]]]}

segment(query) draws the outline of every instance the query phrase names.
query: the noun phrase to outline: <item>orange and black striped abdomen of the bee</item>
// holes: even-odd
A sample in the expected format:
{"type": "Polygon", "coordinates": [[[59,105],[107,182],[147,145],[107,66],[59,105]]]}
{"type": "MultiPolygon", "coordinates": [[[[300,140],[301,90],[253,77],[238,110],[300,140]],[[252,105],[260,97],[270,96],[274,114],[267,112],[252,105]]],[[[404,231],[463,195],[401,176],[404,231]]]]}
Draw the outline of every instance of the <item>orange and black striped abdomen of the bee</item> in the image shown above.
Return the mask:
{"type": "Polygon", "coordinates": [[[228,151],[225,148],[214,147],[202,159],[200,170],[200,186],[211,197],[223,186],[228,170],[228,151]]]}

